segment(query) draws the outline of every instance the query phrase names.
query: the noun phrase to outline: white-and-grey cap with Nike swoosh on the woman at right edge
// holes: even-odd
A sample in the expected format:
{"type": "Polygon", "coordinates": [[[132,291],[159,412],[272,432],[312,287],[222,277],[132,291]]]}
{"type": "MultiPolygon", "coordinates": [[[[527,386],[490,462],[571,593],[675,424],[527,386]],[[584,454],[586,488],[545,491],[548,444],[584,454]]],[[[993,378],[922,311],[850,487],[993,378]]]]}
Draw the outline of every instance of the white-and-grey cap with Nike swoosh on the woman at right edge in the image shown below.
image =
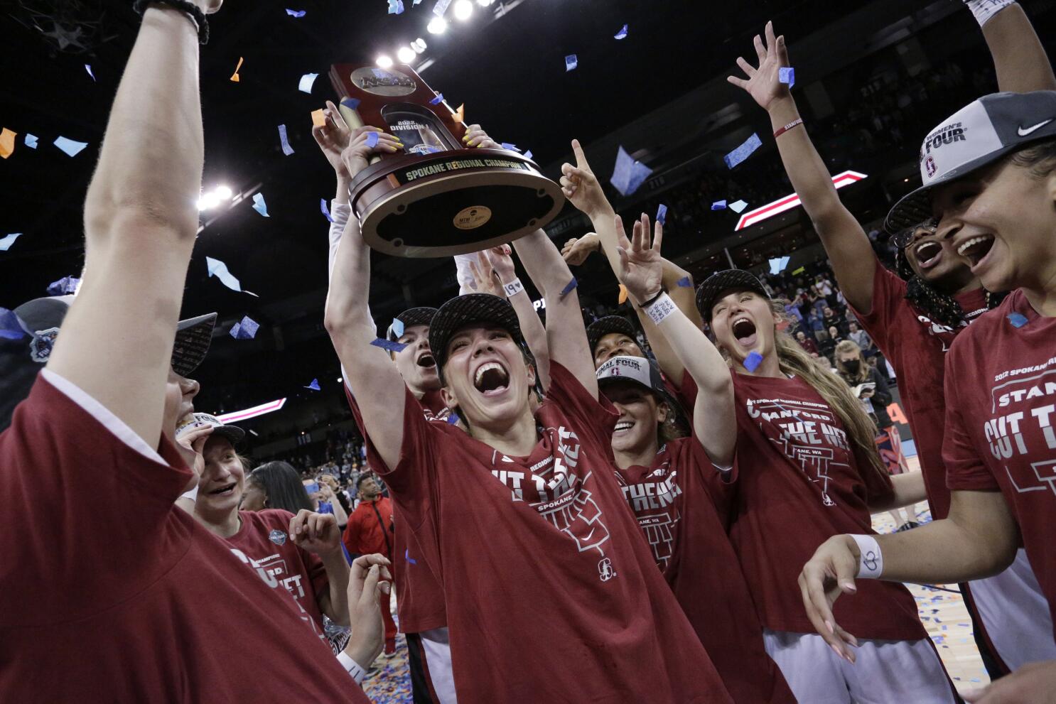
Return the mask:
{"type": "Polygon", "coordinates": [[[921,186],[884,221],[899,232],[931,217],[931,191],[1033,141],[1056,137],[1056,91],[992,93],[957,111],[921,145],[921,186]]]}

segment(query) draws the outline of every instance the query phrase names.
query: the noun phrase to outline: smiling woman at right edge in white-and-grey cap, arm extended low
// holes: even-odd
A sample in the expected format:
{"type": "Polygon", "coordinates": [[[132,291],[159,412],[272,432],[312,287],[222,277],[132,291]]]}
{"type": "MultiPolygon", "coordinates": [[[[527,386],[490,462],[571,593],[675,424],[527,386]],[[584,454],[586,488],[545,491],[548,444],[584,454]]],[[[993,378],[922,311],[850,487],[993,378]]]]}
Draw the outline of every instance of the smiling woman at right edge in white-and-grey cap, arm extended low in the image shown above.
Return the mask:
{"type": "MultiPolygon", "coordinates": [[[[1050,611],[1056,605],[1054,120],[1053,91],[996,93],[968,104],[925,140],[934,164],[924,186],[888,215],[931,212],[938,233],[973,275],[1012,293],[961,332],[946,358],[949,517],[871,540],[838,535],[818,548],[800,576],[816,625],[831,621],[830,605],[842,592],[855,591],[855,576],[979,578],[1007,567],[1020,541],[1050,611]],[[972,139],[959,150],[935,149],[934,135],[951,127],[972,139]],[[862,555],[871,567],[861,567],[862,555]]],[[[855,600],[840,604],[846,601],[855,600]]],[[[831,633],[827,640],[846,647],[831,633]]],[[[1053,691],[1056,661],[1050,660],[1021,667],[970,701],[1051,701],[1053,691]]]]}

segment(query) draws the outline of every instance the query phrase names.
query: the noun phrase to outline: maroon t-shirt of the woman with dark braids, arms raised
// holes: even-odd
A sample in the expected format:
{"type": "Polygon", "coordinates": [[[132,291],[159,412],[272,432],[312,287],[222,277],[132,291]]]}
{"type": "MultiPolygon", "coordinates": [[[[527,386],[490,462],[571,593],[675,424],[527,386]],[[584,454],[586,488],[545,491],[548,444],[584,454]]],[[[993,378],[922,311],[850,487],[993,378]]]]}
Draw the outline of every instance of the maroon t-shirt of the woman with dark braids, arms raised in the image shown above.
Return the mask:
{"type": "MultiPolygon", "coordinates": [[[[982,288],[956,299],[969,322],[986,309],[982,288]]],[[[943,372],[946,350],[964,327],[955,329],[932,322],[906,300],[906,282],[879,263],[872,280],[872,310],[868,315],[854,312],[899,377],[899,395],[913,431],[931,516],[945,518],[949,490],[942,462],[943,372]]]]}

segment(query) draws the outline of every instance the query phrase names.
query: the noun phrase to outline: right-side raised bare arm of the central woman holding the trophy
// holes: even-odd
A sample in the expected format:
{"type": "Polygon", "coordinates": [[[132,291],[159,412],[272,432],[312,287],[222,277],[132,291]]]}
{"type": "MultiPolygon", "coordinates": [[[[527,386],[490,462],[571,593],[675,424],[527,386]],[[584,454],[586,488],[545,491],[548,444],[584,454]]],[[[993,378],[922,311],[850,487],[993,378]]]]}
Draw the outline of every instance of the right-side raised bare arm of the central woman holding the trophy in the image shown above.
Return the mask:
{"type": "Polygon", "coordinates": [[[598,378],[583,325],[580,296],[572,285],[572,272],[543,230],[521,237],[513,243],[513,248],[546,301],[546,346],[550,360],[568,369],[591,396],[597,397],[598,378]]]}

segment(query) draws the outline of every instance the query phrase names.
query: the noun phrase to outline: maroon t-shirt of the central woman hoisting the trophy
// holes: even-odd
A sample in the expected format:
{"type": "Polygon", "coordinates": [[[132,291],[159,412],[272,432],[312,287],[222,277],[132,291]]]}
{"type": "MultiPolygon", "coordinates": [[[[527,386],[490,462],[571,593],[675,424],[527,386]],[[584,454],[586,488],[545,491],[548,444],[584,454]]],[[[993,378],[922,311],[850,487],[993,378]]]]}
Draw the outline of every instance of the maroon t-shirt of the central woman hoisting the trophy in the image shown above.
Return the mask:
{"type": "Polygon", "coordinates": [[[397,465],[367,440],[441,568],[458,699],[732,702],[624,502],[611,404],[551,362],[535,418],[535,449],[509,457],[408,392],[397,465]]]}

